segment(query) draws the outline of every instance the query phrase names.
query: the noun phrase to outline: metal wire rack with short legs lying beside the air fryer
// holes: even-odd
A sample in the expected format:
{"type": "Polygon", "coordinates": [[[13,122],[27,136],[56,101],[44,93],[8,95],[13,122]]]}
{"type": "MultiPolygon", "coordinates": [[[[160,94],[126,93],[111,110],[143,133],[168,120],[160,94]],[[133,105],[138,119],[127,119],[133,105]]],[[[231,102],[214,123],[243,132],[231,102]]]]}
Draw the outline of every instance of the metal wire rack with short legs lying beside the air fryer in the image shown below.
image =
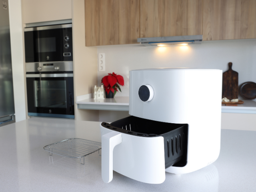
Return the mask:
{"type": "Polygon", "coordinates": [[[48,151],[50,156],[54,153],[69,158],[80,158],[80,164],[83,165],[84,161],[82,163],[81,158],[84,158],[86,155],[92,154],[96,151],[98,151],[99,156],[101,156],[100,149],[100,142],[79,138],[66,139],[44,146],[44,150],[48,151]]]}

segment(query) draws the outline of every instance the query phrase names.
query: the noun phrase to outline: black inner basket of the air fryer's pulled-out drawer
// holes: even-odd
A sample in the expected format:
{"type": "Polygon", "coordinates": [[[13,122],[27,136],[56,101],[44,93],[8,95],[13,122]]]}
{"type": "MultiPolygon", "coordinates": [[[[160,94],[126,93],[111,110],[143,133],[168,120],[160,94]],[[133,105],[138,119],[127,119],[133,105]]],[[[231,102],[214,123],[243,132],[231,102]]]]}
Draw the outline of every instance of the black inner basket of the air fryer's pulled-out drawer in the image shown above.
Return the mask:
{"type": "Polygon", "coordinates": [[[188,124],[158,122],[129,116],[111,124],[102,122],[103,127],[139,137],[164,138],[165,168],[185,166],[187,163],[188,124]]]}

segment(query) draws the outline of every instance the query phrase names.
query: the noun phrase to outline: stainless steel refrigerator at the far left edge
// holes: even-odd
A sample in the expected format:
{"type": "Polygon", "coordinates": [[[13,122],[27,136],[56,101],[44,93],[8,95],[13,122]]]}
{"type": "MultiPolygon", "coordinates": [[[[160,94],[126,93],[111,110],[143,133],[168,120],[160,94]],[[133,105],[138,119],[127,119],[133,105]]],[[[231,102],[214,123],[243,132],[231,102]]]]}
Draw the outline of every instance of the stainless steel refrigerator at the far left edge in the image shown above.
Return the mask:
{"type": "Polygon", "coordinates": [[[0,126],[15,122],[8,0],[0,8],[0,126]]]}

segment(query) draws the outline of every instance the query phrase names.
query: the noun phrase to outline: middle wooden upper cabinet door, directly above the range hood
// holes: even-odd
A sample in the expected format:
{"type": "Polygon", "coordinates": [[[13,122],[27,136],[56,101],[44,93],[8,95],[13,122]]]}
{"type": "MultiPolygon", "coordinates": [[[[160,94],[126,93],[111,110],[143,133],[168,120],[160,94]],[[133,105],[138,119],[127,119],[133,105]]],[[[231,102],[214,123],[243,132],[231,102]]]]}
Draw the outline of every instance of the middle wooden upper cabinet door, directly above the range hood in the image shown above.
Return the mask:
{"type": "Polygon", "coordinates": [[[202,0],[140,0],[140,38],[202,34],[202,0]]]}

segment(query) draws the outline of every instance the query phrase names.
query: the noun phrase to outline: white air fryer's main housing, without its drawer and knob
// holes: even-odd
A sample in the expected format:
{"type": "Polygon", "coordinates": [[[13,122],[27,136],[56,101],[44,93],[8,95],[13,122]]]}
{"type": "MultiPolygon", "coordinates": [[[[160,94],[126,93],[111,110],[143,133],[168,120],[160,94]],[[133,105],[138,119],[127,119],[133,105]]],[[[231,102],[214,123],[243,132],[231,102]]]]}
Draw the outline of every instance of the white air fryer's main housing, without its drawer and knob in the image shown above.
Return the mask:
{"type": "Polygon", "coordinates": [[[214,162],[220,153],[222,70],[160,68],[130,71],[129,114],[188,124],[187,164],[166,172],[184,174],[214,162]],[[154,97],[143,102],[142,85],[150,85],[154,97]]]}

